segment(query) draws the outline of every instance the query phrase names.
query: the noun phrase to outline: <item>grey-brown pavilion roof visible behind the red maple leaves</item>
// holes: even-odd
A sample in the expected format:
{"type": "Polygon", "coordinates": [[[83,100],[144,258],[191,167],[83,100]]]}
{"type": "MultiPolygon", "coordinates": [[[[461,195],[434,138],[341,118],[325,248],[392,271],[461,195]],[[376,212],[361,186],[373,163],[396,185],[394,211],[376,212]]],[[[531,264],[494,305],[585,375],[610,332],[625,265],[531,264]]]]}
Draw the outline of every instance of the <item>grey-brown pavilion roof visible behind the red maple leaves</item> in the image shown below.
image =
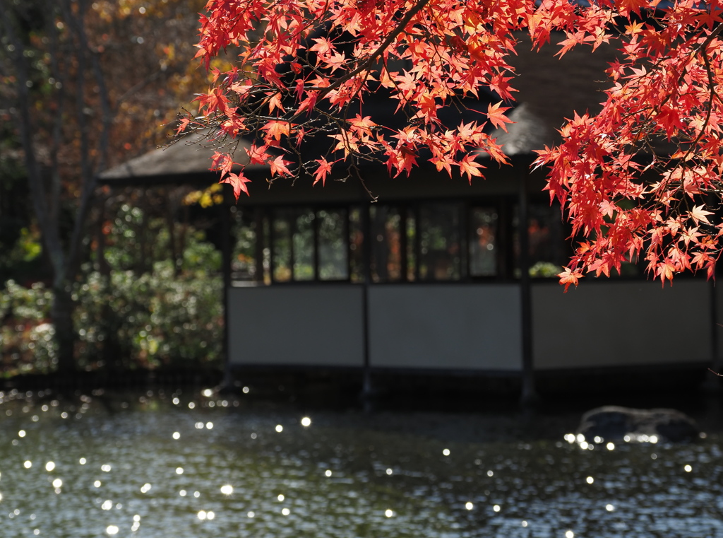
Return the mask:
{"type": "MultiPolygon", "coordinates": [[[[552,43],[563,37],[562,34],[553,35],[552,43]]],[[[565,118],[573,116],[573,112],[598,112],[605,99],[602,90],[609,84],[605,82],[607,75],[604,70],[617,54],[613,46],[604,44],[594,52],[589,46],[577,46],[559,58],[555,56],[559,50],[555,44],[548,44],[541,51],[533,51],[531,41],[525,33],[519,35],[519,41],[518,54],[510,58],[510,64],[517,73],[512,83],[518,91],[514,94],[514,108],[508,115],[515,124],[508,125],[507,133],[502,130],[494,131],[497,140],[503,144],[505,152],[510,156],[531,155],[535,149],[557,143],[560,138],[557,130],[565,118]]],[[[473,103],[466,98],[463,105],[469,109],[450,108],[449,111],[440,111],[440,119],[450,126],[459,125],[461,121],[484,120],[483,114],[472,109],[486,110],[487,102],[497,100],[495,96],[485,95],[482,97],[484,102],[473,103]]],[[[393,112],[397,101],[379,98],[369,98],[367,101],[364,113],[372,114],[375,119],[384,114],[385,109],[389,109],[388,127],[398,128],[400,125],[397,124],[406,121],[401,112],[393,112]]],[[[311,138],[307,143],[319,146],[322,143],[328,145],[329,142],[322,136],[311,138]]],[[[247,146],[244,141],[239,144],[247,146]]],[[[327,148],[326,145],[323,147],[327,148]]],[[[142,180],[145,177],[208,176],[210,157],[215,148],[215,143],[208,140],[208,136],[193,133],[171,146],[158,148],[109,169],[101,173],[99,179],[115,182],[142,180]]],[[[247,161],[247,154],[241,147],[236,150],[236,160],[247,161]]]]}

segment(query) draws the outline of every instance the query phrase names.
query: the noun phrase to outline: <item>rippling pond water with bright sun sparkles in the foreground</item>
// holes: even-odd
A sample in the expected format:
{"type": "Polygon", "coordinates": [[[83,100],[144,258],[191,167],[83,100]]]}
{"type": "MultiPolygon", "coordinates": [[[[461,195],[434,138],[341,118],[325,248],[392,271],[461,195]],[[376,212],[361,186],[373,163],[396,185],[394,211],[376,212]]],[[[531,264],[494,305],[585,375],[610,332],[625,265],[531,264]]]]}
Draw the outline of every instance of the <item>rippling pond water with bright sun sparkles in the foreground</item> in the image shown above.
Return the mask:
{"type": "Polygon", "coordinates": [[[723,537],[715,433],[583,450],[513,415],[0,394],[4,536],[723,537]]]}

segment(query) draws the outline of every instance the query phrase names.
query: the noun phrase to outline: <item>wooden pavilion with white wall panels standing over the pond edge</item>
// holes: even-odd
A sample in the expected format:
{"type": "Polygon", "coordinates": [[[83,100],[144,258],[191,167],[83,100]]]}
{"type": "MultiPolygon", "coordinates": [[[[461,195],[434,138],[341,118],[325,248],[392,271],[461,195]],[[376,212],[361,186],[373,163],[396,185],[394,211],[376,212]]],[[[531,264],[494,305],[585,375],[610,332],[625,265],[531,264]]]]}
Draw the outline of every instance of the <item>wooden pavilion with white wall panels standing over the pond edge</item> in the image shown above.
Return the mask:
{"type": "MultiPolygon", "coordinates": [[[[411,177],[361,169],[359,181],[277,180],[247,169],[228,200],[224,253],[228,371],[351,369],[522,380],[599,372],[705,371],[719,358],[723,294],[704,278],[661,290],[637,266],[562,293],[570,255],[560,211],[531,172],[573,110],[603,100],[610,51],[521,54],[518,104],[497,133],[510,167],[471,185],[434,167],[411,177]],[[372,203],[366,189],[377,196],[372,203]],[[526,225],[521,226],[521,222],[526,225]],[[675,326],[662,324],[664,312],[675,326]]],[[[190,140],[194,142],[194,140],[190,140]]],[[[211,148],[176,143],[100,175],[108,185],[206,184],[211,148]]]]}

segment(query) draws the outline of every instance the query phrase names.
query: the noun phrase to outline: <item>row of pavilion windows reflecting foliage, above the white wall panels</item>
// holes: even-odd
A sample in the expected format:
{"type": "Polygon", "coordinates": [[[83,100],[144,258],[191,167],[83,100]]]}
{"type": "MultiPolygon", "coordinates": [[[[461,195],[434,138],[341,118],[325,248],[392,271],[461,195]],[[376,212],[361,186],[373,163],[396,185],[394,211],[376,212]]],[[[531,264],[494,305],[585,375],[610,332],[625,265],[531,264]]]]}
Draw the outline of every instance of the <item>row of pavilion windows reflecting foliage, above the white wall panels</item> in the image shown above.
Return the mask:
{"type": "MultiPolygon", "coordinates": [[[[371,282],[445,281],[464,279],[468,272],[508,277],[510,266],[518,276],[517,209],[502,202],[466,207],[440,202],[238,208],[231,277],[267,284],[364,282],[365,277],[371,282]],[[508,239],[511,249],[505,246],[508,239]]],[[[531,275],[559,273],[569,255],[559,208],[531,203],[528,232],[531,275]]]]}

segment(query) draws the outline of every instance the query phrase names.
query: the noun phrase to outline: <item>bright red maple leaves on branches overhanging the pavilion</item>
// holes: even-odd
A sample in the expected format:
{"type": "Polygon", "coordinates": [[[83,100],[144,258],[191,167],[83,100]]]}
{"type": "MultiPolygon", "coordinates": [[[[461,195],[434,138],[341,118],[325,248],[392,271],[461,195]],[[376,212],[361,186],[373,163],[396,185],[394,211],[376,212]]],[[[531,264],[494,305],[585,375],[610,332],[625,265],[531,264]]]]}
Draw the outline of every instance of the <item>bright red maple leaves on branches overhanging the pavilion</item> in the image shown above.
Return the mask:
{"type": "MultiPolygon", "coordinates": [[[[579,111],[559,145],[541,148],[551,198],[562,203],[578,242],[560,277],[644,261],[662,282],[685,270],[714,275],[723,223],[723,5],[685,0],[209,0],[197,56],[208,67],[224,51],[236,62],[213,70],[199,96],[200,117],[179,132],[218,127],[229,140],[253,140],[250,164],[272,177],[309,175],[359,162],[408,174],[420,159],[440,172],[482,177],[484,154],[506,161],[492,127],[505,129],[514,98],[510,55],[531,38],[537,49],[615,46],[602,111],[579,111]],[[444,107],[493,92],[479,119],[445,125],[444,107]],[[363,114],[385,92],[406,114],[403,127],[363,114]],[[320,136],[330,151],[312,156],[303,141],[320,136]]],[[[247,192],[219,151],[215,169],[247,192]]]]}

